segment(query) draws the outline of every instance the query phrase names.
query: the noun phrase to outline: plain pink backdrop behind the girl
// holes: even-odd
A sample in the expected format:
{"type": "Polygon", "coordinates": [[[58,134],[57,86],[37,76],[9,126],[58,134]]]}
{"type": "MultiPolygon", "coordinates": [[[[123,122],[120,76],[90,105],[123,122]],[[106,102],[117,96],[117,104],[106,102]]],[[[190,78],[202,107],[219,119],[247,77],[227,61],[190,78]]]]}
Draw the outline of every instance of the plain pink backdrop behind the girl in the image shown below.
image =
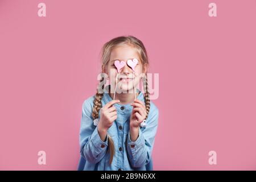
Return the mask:
{"type": "Polygon", "coordinates": [[[159,73],[154,169],[256,169],[255,20],[253,0],[0,0],[0,169],[77,169],[82,102],[119,35],[159,73]]]}

